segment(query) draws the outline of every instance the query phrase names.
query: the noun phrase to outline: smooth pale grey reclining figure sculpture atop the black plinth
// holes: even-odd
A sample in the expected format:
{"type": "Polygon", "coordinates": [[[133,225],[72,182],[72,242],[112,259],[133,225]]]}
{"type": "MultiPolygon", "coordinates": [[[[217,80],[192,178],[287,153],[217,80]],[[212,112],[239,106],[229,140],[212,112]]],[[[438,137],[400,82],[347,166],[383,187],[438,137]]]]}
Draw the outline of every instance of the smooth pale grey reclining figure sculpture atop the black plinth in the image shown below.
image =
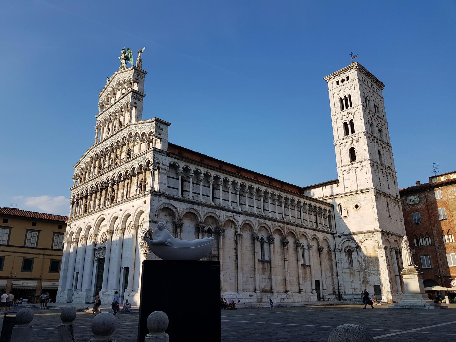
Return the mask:
{"type": "Polygon", "coordinates": [[[163,222],[157,223],[152,239],[145,240],[150,250],[163,260],[199,260],[204,258],[215,244],[213,236],[192,241],[175,238],[163,222]]]}

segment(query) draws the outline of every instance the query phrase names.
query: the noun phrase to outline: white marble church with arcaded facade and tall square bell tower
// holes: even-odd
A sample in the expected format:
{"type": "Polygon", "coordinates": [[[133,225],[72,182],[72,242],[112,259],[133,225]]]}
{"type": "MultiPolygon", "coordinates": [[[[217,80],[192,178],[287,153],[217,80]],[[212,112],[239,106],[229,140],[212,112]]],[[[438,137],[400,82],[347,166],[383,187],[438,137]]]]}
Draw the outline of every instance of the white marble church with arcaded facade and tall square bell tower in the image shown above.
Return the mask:
{"type": "MultiPolygon", "coordinates": [[[[140,57],[140,54],[139,54],[140,57]]],[[[143,120],[146,72],[120,70],[98,95],[94,144],[74,166],[57,301],[98,292],[139,304],[144,237],[214,236],[221,297],[243,302],[399,301],[402,210],[382,89],[359,63],[325,78],[338,179],[299,187],[168,142],[143,120]]],[[[183,290],[185,284],[182,284],[183,290]]]]}

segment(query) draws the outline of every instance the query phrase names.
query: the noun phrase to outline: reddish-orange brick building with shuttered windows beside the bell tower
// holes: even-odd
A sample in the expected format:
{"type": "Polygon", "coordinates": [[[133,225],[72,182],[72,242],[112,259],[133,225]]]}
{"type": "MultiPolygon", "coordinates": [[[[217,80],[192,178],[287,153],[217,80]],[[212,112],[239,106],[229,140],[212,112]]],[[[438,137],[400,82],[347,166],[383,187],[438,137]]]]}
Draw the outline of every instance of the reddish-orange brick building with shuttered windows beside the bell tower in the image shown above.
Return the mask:
{"type": "Polygon", "coordinates": [[[429,177],[425,184],[417,181],[399,194],[425,286],[456,287],[456,171],[429,177]]]}

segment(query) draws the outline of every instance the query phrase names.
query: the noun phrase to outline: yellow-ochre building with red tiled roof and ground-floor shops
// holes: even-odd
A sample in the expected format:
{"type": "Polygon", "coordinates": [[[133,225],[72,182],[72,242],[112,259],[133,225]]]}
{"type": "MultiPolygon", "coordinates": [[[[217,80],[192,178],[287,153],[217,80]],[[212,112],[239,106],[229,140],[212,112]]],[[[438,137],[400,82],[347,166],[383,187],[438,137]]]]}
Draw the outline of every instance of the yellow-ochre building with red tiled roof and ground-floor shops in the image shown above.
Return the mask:
{"type": "Polygon", "coordinates": [[[36,302],[57,295],[67,216],[0,208],[0,291],[36,302]]]}

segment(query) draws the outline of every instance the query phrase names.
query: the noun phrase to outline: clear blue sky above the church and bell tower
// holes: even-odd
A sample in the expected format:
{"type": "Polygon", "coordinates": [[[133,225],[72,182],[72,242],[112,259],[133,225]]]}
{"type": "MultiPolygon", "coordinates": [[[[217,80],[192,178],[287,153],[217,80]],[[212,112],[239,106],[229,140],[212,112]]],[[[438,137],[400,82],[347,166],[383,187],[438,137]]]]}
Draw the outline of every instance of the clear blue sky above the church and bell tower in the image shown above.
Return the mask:
{"type": "Polygon", "coordinates": [[[98,92],[146,47],[144,119],[169,140],[306,186],[337,178],[324,76],[350,52],[385,85],[399,187],[456,170],[455,1],[2,4],[0,206],[68,213],[98,92]],[[6,15],[5,15],[6,14],[6,15]]]}

